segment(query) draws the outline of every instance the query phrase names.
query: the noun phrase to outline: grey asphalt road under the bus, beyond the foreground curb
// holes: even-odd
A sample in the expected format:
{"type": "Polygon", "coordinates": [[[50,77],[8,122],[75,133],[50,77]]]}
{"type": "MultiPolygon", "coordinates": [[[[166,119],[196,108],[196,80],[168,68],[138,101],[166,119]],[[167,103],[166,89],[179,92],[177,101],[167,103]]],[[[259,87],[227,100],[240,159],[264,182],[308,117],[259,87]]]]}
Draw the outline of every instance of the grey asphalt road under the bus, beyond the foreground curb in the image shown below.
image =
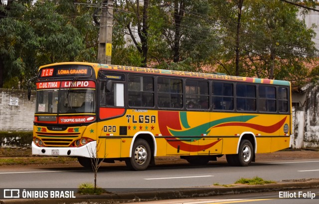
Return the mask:
{"type": "MultiPolygon", "coordinates": [[[[255,176],[274,181],[319,178],[319,160],[256,162],[249,167],[231,167],[226,162],[206,166],[170,164],[139,172],[123,166],[104,166],[99,169],[97,184],[109,191],[132,191],[233,184],[240,178],[255,176]]],[[[93,172],[80,167],[0,168],[0,188],[77,188],[93,181],[93,172]]]]}

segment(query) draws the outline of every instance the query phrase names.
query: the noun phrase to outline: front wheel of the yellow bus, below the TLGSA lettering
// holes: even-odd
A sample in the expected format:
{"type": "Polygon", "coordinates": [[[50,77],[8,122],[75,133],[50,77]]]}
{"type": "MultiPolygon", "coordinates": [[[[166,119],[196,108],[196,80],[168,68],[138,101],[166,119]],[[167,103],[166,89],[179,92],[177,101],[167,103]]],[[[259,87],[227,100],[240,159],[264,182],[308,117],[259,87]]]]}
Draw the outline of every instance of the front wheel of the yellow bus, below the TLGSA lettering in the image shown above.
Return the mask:
{"type": "Polygon", "coordinates": [[[127,167],[135,171],[146,170],[151,162],[151,147],[144,139],[137,139],[133,144],[132,156],[125,160],[127,167]]]}

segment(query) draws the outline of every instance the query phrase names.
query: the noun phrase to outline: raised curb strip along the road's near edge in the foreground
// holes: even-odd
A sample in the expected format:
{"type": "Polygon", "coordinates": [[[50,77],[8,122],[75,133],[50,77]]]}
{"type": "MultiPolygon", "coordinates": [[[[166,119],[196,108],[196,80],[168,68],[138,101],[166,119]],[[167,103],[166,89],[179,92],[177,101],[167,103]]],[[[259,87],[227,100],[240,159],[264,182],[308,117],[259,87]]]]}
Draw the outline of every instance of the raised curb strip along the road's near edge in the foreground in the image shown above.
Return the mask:
{"type": "Polygon", "coordinates": [[[319,179],[306,181],[281,182],[265,185],[243,185],[235,187],[197,187],[183,189],[154,189],[130,192],[111,192],[102,195],[76,195],[76,199],[10,199],[0,200],[0,204],[115,204],[132,203],[138,201],[154,201],[169,199],[200,198],[208,196],[235,195],[246,193],[261,193],[273,191],[287,191],[297,189],[319,188],[319,179]]]}

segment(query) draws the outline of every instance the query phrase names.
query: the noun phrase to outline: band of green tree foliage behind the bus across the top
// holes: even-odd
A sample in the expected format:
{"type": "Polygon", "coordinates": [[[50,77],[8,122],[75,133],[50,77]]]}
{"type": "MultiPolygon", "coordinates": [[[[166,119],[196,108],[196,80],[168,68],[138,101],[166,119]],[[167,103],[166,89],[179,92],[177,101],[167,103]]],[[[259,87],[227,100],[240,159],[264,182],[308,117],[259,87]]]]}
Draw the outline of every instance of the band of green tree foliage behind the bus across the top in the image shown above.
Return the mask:
{"type": "MultiPolygon", "coordinates": [[[[147,55],[141,36],[128,35],[142,25],[143,5],[114,1],[112,64],[217,71],[235,75],[240,0],[150,0],[147,55]]],[[[63,61],[97,62],[102,0],[4,1],[0,3],[0,84],[26,88],[39,66],[63,61]],[[9,5],[7,5],[9,3],[9,5]],[[10,8],[10,9],[8,9],[10,8]],[[99,18],[99,17],[97,17],[99,18]],[[99,20],[99,19],[98,19],[99,20]],[[3,75],[3,76],[2,76],[3,75]]],[[[297,0],[296,2],[299,2],[297,0]]],[[[314,0],[304,1],[314,6],[314,0]]],[[[300,20],[299,7],[280,0],[244,0],[239,32],[239,75],[300,82],[316,78],[305,64],[318,56],[315,32],[300,20]]],[[[143,28],[143,27],[140,27],[143,28]]]]}

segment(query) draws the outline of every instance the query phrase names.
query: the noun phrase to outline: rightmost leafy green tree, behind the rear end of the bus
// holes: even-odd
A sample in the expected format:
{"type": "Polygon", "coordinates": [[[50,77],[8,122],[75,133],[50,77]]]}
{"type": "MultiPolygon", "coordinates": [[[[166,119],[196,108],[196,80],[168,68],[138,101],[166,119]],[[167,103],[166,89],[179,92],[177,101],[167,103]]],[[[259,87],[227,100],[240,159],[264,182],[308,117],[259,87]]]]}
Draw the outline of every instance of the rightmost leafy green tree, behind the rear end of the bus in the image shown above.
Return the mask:
{"type": "Polygon", "coordinates": [[[248,3],[246,74],[286,80],[305,77],[304,63],[316,54],[315,32],[298,18],[298,7],[279,0],[248,3]]]}

